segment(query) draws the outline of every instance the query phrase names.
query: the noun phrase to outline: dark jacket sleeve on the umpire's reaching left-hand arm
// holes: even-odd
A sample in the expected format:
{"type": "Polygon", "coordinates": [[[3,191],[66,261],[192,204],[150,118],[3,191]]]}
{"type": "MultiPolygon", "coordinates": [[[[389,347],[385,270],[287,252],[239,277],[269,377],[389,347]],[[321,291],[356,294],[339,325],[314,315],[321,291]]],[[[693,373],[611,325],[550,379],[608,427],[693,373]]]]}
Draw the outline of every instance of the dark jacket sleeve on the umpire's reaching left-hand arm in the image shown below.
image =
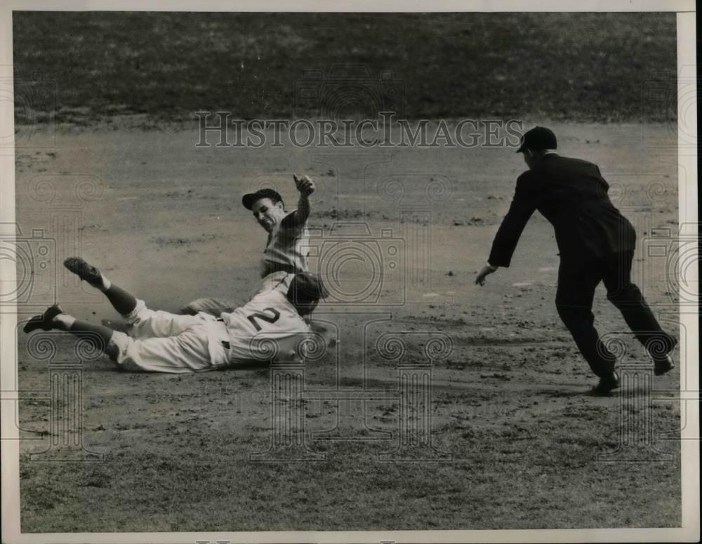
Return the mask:
{"type": "Polygon", "coordinates": [[[519,237],[536,210],[536,191],[535,187],[531,187],[535,181],[529,179],[529,176],[525,174],[519,176],[510,210],[502,220],[492,243],[490,257],[487,260],[489,264],[503,267],[510,265],[512,253],[515,252],[519,237]]]}

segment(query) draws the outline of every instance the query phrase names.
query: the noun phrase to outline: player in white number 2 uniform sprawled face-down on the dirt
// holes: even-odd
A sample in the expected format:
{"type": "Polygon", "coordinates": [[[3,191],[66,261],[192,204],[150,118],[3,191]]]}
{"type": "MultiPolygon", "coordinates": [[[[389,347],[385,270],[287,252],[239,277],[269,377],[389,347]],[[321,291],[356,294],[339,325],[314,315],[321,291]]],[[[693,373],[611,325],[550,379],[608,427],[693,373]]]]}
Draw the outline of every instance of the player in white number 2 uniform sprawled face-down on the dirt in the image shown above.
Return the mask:
{"type": "Polygon", "coordinates": [[[179,315],[148,308],[81,258],[68,258],[64,265],[105,293],[128,324],[128,333],[76,319],[58,304],[32,317],[25,333],[56,329],[91,338],[121,369],[131,371],[190,373],[250,361],[303,360],[305,345],[315,341],[303,317],[328,296],[319,278],[303,272],[289,279],[285,291],[260,291],[220,317],[179,315]]]}

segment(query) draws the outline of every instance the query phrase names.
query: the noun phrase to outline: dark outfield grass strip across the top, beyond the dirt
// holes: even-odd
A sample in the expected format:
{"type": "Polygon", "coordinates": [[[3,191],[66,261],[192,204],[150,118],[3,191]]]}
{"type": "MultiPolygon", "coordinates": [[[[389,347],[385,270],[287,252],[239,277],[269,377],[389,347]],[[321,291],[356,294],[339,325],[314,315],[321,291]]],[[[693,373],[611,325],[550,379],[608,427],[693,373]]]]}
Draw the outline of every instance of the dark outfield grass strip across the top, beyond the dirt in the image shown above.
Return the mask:
{"type": "Polygon", "coordinates": [[[314,111],[296,84],[334,65],[361,67],[366,75],[354,77],[376,87],[392,72],[410,119],[677,115],[674,103],[642,103],[651,81],[675,88],[673,13],[20,11],[13,32],[15,77],[55,86],[55,97],[18,105],[19,123],[131,113],[188,121],[197,110],[303,117],[314,111]]]}

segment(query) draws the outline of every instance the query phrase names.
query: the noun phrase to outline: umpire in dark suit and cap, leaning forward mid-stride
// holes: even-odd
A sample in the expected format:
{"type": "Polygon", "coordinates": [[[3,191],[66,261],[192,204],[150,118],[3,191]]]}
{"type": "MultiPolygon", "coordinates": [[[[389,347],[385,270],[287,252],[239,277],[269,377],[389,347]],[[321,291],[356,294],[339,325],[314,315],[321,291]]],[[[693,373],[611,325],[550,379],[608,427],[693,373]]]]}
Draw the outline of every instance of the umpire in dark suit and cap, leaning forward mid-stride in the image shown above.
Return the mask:
{"type": "Polygon", "coordinates": [[[676,340],[665,333],[641,291],[631,282],[636,232],[609,200],[609,185],[600,168],[588,161],[560,157],[555,134],[537,126],[524,134],[517,153],[529,170],[517,179],[510,210],[495,236],[487,264],[475,279],[508,267],[522,230],[535,210],[553,225],[561,263],[556,308],[578,349],[600,377],[595,392],[607,394],[619,385],[616,357],[593,325],[592,299],[600,281],[614,304],[654,360],[660,376],[673,369],[670,352],[676,340]]]}

